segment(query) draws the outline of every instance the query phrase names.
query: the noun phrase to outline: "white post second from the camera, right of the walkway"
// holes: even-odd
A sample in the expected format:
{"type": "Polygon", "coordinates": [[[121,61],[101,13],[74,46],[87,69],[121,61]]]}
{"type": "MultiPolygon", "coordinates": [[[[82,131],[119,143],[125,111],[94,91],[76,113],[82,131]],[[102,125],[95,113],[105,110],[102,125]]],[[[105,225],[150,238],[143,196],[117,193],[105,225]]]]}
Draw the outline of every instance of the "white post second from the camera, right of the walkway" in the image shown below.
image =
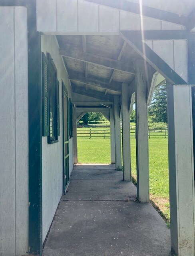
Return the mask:
{"type": "Polygon", "coordinates": [[[136,61],[136,157],[137,157],[137,198],[149,202],[149,155],[147,122],[147,78],[143,60],[136,61]]]}

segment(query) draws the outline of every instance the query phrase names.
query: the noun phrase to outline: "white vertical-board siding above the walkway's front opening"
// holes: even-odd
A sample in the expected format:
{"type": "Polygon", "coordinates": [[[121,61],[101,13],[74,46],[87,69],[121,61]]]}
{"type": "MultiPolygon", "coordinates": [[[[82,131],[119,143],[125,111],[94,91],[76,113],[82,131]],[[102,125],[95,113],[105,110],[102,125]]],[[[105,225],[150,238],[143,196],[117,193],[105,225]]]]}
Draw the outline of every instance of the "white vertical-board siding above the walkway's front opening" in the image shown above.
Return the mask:
{"type": "Polygon", "coordinates": [[[119,34],[122,30],[183,30],[184,26],[85,0],[37,0],[37,30],[54,34],[119,34]]]}

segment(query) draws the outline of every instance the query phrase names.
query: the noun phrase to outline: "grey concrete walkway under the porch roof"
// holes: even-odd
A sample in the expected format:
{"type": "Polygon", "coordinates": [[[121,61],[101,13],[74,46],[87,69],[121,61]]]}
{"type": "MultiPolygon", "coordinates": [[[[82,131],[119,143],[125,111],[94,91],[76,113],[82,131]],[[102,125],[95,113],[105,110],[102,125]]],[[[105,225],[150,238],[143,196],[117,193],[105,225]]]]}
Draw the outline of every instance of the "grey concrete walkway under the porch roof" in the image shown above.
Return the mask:
{"type": "Polygon", "coordinates": [[[113,165],[77,165],[43,256],[168,256],[170,231],[113,165]]]}

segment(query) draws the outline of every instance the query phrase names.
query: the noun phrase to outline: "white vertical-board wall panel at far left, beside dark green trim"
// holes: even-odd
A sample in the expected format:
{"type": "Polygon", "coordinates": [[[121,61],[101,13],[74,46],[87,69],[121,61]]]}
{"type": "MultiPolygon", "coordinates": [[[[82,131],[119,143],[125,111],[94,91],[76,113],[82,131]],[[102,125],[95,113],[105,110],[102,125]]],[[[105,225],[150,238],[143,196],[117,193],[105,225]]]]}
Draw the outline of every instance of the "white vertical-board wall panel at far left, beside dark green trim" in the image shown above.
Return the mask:
{"type": "Polygon", "coordinates": [[[19,256],[28,252],[27,9],[0,7],[0,34],[0,256],[19,256]]]}

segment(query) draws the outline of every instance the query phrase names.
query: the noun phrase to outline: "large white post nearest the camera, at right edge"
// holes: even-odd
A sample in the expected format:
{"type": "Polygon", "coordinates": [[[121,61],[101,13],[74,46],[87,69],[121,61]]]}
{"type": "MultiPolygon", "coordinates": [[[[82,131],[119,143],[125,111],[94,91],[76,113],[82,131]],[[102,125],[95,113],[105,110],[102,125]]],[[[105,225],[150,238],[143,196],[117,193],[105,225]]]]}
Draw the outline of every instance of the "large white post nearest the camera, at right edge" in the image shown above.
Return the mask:
{"type": "Polygon", "coordinates": [[[167,83],[171,250],[195,255],[195,184],[190,85],[167,83]]]}

